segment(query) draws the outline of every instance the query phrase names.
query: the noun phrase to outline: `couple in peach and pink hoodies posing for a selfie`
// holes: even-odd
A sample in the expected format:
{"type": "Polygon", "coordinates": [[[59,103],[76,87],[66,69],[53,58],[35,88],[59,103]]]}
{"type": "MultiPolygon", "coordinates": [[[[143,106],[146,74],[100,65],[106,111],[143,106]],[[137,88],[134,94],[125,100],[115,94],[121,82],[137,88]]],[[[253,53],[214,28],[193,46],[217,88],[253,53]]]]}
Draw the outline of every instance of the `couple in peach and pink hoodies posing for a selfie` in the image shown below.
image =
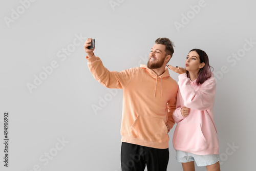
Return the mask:
{"type": "Polygon", "coordinates": [[[94,55],[91,38],[84,44],[88,66],[103,86],[123,89],[121,123],[122,171],[165,171],[169,160],[168,132],[177,123],[173,146],[183,170],[206,166],[220,170],[219,140],[214,123],[216,81],[207,54],[200,49],[184,57],[185,68],[167,65],[173,42],[158,38],[147,65],[123,70],[106,69],[94,55]],[[166,67],[167,66],[167,67],[166,67]],[[177,82],[168,69],[179,73],[177,82]]]}

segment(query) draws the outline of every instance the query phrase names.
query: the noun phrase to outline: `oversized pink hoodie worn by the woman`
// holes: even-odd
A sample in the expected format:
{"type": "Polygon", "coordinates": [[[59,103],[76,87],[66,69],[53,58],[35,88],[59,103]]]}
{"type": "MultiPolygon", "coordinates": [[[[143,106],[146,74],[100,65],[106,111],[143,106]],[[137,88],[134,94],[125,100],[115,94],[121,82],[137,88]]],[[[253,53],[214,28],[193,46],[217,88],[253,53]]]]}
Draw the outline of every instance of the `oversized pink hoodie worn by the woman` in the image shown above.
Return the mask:
{"type": "Polygon", "coordinates": [[[196,155],[219,154],[219,140],[214,123],[216,81],[212,75],[200,86],[186,74],[179,75],[179,91],[173,118],[177,123],[173,146],[175,150],[196,155]],[[187,117],[181,108],[190,108],[187,117]]]}

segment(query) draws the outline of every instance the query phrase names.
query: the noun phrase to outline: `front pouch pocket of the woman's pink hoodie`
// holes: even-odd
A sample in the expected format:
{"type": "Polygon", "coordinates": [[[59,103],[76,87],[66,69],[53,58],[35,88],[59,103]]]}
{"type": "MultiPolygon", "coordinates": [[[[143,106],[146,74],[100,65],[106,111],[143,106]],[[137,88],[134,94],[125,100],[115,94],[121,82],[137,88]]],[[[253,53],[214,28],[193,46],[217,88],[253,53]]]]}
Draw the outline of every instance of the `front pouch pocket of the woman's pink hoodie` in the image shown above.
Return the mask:
{"type": "Polygon", "coordinates": [[[178,124],[174,133],[173,144],[176,147],[206,149],[208,146],[200,123],[178,124]]]}

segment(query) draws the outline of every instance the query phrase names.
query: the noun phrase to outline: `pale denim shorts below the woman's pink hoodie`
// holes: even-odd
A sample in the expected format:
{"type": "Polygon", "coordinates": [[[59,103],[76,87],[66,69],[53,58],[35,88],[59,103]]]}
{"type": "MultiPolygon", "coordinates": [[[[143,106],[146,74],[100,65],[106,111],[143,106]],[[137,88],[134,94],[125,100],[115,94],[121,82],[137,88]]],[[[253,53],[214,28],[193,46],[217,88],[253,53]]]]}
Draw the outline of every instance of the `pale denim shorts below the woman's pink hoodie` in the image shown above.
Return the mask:
{"type": "Polygon", "coordinates": [[[219,155],[195,155],[192,153],[176,151],[176,160],[181,163],[196,161],[197,166],[208,166],[220,161],[219,155]]]}

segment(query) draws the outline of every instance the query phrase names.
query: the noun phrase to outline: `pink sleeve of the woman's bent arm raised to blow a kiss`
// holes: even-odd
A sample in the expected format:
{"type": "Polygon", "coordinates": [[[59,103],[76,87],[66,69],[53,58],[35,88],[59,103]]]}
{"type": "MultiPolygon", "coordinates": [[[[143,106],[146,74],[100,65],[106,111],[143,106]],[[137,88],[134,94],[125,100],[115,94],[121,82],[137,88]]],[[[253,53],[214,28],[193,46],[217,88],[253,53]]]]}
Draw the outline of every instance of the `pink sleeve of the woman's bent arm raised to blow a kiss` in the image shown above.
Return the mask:
{"type": "Polygon", "coordinates": [[[204,111],[214,106],[216,81],[213,76],[201,84],[198,91],[191,87],[190,79],[186,74],[179,75],[178,84],[184,105],[187,108],[204,111]]]}

